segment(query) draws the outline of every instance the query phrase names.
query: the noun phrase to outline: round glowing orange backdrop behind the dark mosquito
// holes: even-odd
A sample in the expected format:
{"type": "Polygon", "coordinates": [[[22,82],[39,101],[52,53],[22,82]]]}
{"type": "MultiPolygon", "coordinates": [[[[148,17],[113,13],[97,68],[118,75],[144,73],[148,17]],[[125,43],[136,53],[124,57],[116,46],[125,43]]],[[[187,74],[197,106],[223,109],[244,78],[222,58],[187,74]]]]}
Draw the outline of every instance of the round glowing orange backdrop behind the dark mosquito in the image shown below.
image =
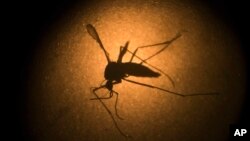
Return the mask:
{"type": "MultiPolygon", "coordinates": [[[[178,97],[122,82],[117,119],[135,140],[225,140],[238,119],[244,98],[245,66],[230,28],[201,3],[161,0],[115,0],[79,3],[41,39],[29,79],[27,123],[37,140],[125,140],[107,111],[91,101],[91,87],[104,80],[107,65],[85,26],[91,23],[115,61],[119,48],[167,41],[186,30],[149,61],[167,77],[133,78],[180,93],[219,92],[219,96],[178,97]]],[[[146,58],[155,48],[140,50],[146,58]]],[[[124,57],[128,61],[130,55],[124,57]]],[[[138,62],[138,60],[135,60],[138,62]]],[[[100,94],[107,91],[102,90],[100,94]]],[[[114,112],[115,98],[106,100],[114,112]]]]}

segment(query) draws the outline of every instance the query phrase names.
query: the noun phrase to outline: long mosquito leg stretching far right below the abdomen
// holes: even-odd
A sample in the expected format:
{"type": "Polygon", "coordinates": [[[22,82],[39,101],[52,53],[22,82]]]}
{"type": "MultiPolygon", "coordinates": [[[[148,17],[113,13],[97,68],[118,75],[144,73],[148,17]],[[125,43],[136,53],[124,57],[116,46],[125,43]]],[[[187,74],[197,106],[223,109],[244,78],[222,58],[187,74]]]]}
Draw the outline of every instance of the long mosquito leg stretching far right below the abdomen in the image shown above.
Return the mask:
{"type": "Polygon", "coordinates": [[[163,88],[160,88],[160,87],[156,87],[156,86],[153,86],[153,85],[149,85],[149,84],[144,84],[144,83],[136,82],[136,81],[129,80],[129,79],[125,79],[125,78],[123,78],[123,80],[125,80],[125,81],[127,81],[127,82],[130,82],[130,83],[137,84],[137,85],[146,86],[146,87],[149,87],[149,88],[153,88],[153,89],[158,89],[158,90],[161,90],[161,91],[165,91],[165,92],[168,92],[168,93],[170,93],[170,94],[178,95],[178,96],[182,96],[182,97],[187,97],[187,96],[198,96],[198,95],[218,95],[218,94],[219,94],[219,93],[217,93],[217,92],[212,92],[212,93],[192,93],[192,94],[183,94],[183,93],[173,92],[173,91],[166,90],[166,89],[163,89],[163,88]]]}

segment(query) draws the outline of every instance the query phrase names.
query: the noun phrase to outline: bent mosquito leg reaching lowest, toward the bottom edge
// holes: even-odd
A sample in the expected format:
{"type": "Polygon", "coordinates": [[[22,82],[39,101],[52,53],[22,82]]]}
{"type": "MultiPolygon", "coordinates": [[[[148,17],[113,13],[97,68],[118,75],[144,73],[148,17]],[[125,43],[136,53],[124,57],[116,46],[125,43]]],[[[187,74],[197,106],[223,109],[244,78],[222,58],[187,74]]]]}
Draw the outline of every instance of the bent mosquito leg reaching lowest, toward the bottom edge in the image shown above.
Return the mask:
{"type": "Polygon", "coordinates": [[[105,108],[105,110],[108,112],[109,116],[112,118],[113,123],[115,124],[115,127],[116,127],[116,129],[119,131],[119,133],[120,133],[122,136],[124,136],[125,138],[128,138],[128,137],[130,137],[130,136],[129,136],[129,135],[126,135],[126,134],[120,129],[120,127],[118,126],[118,124],[117,124],[117,122],[116,122],[116,120],[115,120],[113,114],[111,113],[111,111],[108,109],[108,107],[104,104],[104,102],[103,102],[103,101],[98,97],[98,95],[96,94],[96,91],[97,91],[97,90],[102,89],[102,88],[104,88],[104,87],[105,87],[105,86],[100,86],[100,87],[94,88],[92,92],[94,93],[94,95],[96,96],[96,98],[100,101],[100,103],[101,103],[102,106],[105,108]]]}

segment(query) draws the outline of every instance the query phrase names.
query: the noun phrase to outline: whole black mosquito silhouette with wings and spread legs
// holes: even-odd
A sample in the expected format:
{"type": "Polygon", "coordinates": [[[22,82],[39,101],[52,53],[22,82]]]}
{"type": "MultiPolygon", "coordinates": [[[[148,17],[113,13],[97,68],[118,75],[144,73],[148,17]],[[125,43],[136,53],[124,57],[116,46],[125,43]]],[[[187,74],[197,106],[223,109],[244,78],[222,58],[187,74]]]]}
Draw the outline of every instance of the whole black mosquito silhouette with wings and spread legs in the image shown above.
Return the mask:
{"type": "Polygon", "coordinates": [[[118,56],[118,59],[116,62],[111,61],[109,58],[109,53],[106,51],[106,49],[104,48],[101,39],[95,29],[95,27],[91,24],[87,24],[86,25],[87,31],[89,33],[89,35],[95,39],[97,41],[97,43],[100,45],[101,49],[103,50],[106,59],[107,59],[107,66],[105,68],[104,71],[104,78],[106,81],[105,84],[101,84],[99,87],[93,87],[92,88],[92,92],[93,94],[96,96],[96,98],[92,98],[91,100],[99,100],[100,103],[103,105],[103,107],[106,109],[106,111],[108,112],[108,114],[111,116],[115,127],[117,128],[117,130],[120,132],[120,134],[124,137],[131,137],[127,134],[125,134],[118,126],[114,115],[112,114],[112,112],[109,110],[109,108],[105,105],[105,103],[102,101],[102,99],[110,99],[113,97],[113,94],[116,94],[116,101],[115,101],[115,114],[116,116],[123,120],[123,118],[118,114],[117,112],[117,103],[118,103],[118,96],[119,93],[113,90],[113,86],[116,84],[119,84],[122,82],[122,80],[133,83],[133,84],[137,84],[137,85],[141,85],[141,86],[145,86],[145,87],[149,87],[149,88],[153,88],[153,89],[158,89],[164,92],[167,92],[169,94],[173,94],[173,95],[177,95],[177,96],[182,96],[182,97],[186,97],[186,96],[198,96],[198,95],[217,95],[218,93],[192,93],[192,94],[183,94],[183,93],[177,93],[177,92],[173,92],[173,91],[169,91],[160,87],[156,87],[150,84],[144,84],[141,82],[137,82],[137,81],[133,81],[130,79],[127,79],[129,76],[136,76],[136,77],[159,77],[162,73],[164,74],[166,77],[168,77],[168,79],[171,81],[172,85],[175,86],[174,81],[171,79],[171,77],[169,75],[167,75],[166,73],[164,73],[162,70],[158,69],[157,67],[149,64],[147,61],[153,57],[155,57],[156,55],[158,55],[159,53],[161,53],[162,51],[164,51],[172,42],[174,42],[175,40],[177,40],[178,38],[180,38],[182,36],[181,32],[177,33],[175,37],[173,37],[171,40],[162,42],[162,43],[157,43],[157,44],[152,44],[152,45],[146,45],[146,46],[140,46],[137,47],[135,49],[134,52],[128,50],[128,45],[129,42],[127,41],[125,46],[121,46],[120,47],[120,53],[118,56]],[[142,59],[141,57],[137,56],[136,53],[139,49],[142,48],[146,48],[146,47],[153,47],[153,46],[159,46],[159,45],[165,45],[163,46],[159,51],[157,51],[156,53],[154,53],[153,55],[149,56],[146,59],[142,59]],[[132,57],[130,58],[129,62],[122,62],[122,58],[126,53],[130,53],[132,54],[132,57]],[[141,62],[140,63],[134,63],[133,58],[137,58],[139,59],[141,62]],[[155,69],[156,71],[153,71],[152,69],[150,69],[149,67],[143,65],[143,64],[147,64],[148,66],[152,67],[153,69],[155,69]],[[158,72],[157,72],[158,71],[158,72]],[[97,91],[100,89],[106,88],[109,90],[109,96],[108,97],[99,97],[97,95],[97,91]]]}

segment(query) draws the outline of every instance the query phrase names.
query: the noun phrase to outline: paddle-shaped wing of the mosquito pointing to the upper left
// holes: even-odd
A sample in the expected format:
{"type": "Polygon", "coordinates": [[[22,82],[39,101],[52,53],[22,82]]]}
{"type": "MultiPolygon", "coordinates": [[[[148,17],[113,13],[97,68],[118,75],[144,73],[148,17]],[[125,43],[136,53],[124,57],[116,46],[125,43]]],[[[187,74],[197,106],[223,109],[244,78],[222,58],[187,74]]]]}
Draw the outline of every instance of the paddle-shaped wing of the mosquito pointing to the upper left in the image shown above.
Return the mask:
{"type": "Polygon", "coordinates": [[[97,33],[95,27],[94,27],[93,25],[91,25],[91,24],[87,24],[87,25],[86,25],[86,28],[87,28],[87,31],[88,31],[89,35],[90,35],[93,39],[95,39],[95,40],[97,41],[97,43],[100,45],[100,47],[101,47],[102,50],[104,51],[108,63],[111,62],[110,59],[109,59],[109,54],[108,54],[108,52],[106,51],[106,49],[104,48],[104,46],[103,46],[103,44],[102,44],[102,41],[101,41],[101,39],[100,39],[100,37],[99,37],[99,35],[98,35],[98,33],[97,33]]]}

